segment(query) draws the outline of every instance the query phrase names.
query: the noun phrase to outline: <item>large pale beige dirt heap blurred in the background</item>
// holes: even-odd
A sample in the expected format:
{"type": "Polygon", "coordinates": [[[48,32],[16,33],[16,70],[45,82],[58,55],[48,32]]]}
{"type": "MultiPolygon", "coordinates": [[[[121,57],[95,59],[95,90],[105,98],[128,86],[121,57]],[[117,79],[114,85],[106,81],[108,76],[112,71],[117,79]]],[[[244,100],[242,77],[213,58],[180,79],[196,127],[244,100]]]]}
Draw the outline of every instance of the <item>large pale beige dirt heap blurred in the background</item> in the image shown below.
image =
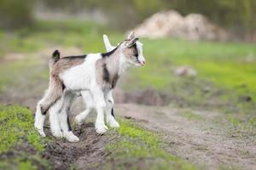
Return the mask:
{"type": "Polygon", "coordinates": [[[202,14],[182,16],[171,10],[154,14],[134,31],[139,37],[175,37],[189,40],[227,41],[230,35],[202,14]]]}

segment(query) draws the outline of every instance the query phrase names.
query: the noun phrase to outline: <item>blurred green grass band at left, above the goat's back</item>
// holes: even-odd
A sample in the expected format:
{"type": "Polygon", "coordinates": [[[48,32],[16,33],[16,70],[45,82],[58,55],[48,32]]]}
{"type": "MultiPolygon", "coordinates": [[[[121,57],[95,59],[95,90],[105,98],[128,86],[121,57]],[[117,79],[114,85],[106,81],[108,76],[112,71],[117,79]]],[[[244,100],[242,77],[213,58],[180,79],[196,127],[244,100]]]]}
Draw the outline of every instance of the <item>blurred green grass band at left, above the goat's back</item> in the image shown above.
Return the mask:
{"type": "MultiPolygon", "coordinates": [[[[91,22],[38,21],[16,31],[0,30],[0,53],[32,53],[53,46],[78,47],[86,53],[99,53],[105,51],[102,34],[111,32],[91,22]]],[[[115,35],[119,37],[120,34],[115,35]]]]}

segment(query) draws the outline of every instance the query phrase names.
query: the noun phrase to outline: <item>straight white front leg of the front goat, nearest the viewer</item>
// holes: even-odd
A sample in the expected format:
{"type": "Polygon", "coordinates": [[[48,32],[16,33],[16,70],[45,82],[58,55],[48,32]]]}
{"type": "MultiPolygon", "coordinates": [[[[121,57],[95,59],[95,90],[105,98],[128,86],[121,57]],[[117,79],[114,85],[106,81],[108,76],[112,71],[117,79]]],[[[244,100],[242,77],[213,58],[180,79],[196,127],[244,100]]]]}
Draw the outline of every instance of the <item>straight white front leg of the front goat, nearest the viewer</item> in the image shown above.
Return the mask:
{"type": "Polygon", "coordinates": [[[102,92],[102,89],[95,89],[92,91],[93,99],[96,102],[96,111],[97,111],[97,117],[96,117],[96,133],[102,134],[106,133],[108,130],[108,127],[105,125],[104,122],[104,111],[106,109],[106,102],[104,99],[104,94],[102,92]]]}

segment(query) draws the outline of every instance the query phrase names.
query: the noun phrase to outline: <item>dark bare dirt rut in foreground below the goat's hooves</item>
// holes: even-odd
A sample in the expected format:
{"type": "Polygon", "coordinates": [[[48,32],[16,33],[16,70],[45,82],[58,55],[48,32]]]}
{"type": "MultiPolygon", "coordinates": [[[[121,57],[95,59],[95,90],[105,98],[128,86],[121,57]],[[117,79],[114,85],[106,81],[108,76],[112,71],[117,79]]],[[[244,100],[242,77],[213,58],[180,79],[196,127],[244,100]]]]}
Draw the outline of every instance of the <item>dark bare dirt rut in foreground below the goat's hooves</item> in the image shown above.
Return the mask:
{"type": "Polygon", "coordinates": [[[78,143],[60,139],[47,144],[43,157],[49,161],[51,167],[62,170],[74,165],[79,169],[93,169],[91,166],[96,164],[100,166],[108,155],[104,151],[109,142],[108,136],[98,135],[91,122],[75,127],[73,133],[79,136],[78,143]]]}

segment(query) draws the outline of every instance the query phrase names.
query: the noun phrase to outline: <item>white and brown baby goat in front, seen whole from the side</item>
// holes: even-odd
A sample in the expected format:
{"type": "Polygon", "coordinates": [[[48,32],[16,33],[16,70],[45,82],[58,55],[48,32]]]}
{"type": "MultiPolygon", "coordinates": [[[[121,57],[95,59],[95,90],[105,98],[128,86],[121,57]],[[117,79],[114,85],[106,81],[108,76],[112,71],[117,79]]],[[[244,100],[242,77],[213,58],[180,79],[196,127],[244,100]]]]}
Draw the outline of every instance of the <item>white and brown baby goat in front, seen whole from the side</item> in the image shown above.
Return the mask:
{"type": "Polygon", "coordinates": [[[145,64],[143,44],[137,40],[138,38],[131,33],[125,41],[104,54],[84,54],[60,59],[60,54],[55,51],[49,63],[49,88],[37,106],[35,127],[38,133],[45,136],[44,119],[46,112],[49,111],[53,135],[57,137],[63,135],[69,141],[78,141],[79,139],[68,127],[67,113],[75,94],[80,91],[87,91],[96,107],[96,132],[105,133],[108,127],[105,126],[103,111],[106,109],[107,115],[111,114],[113,104],[113,99],[110,99],[111,91],[115,88],[119,76],[130,65],[145,64]],[[59,118],[56,112],[60,112],[59,118]],[[55,120],[59,122],[56,123],[55,120]]]}

